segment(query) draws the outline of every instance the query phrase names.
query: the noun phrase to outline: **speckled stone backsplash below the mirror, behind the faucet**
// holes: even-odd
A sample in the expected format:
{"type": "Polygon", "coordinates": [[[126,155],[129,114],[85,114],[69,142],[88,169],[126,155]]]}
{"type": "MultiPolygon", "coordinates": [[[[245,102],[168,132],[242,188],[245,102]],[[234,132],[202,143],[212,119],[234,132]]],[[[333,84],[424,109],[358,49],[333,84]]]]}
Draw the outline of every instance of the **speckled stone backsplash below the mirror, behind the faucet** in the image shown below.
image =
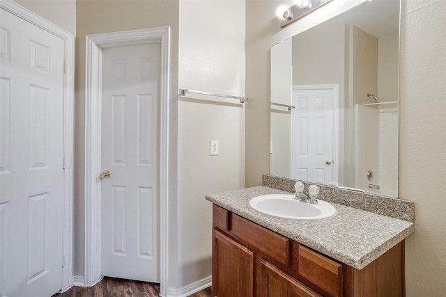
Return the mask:
{"type": "MultiPolygon", "coordinates": [[[[263,175],[262,177],[262,186],[277,188],[278,190],[289,193],[295,192],[295,182],[295,179],[274,177],[272,175],[263,175]]],[[[305,184],[305,191],[307,191],[308,186],[312,184],[309,182],[302,183],[305,184]]],[[[321,184],[318,184],[318,186],[320,188],[318,196],[321,200],[342,204],[355,209],[362,209],[375,214],[382,214],[383,216],[399,218],[400,220],[407,220],[409,222],[414,222],[415,220],[414,202],[370,193],[361,193],[343,188],[335,188],[332,186],[324,186],[321,184]]]]}

